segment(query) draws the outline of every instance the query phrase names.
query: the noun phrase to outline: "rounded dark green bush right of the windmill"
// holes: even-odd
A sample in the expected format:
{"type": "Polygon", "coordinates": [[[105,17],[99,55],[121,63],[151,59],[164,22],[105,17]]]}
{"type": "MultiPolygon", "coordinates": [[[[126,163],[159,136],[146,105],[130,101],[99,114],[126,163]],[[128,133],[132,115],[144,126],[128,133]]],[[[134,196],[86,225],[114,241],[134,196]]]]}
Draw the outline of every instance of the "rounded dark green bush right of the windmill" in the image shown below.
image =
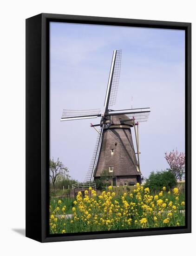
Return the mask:
{"type": "Polygon", "coordinates": [[[146,179],[144,188],[149,188],[150,191],[160,191],[163,187],[167,190],[176,186],[175,175],[169,170],[151,172],[149,178],[146,179]]]}

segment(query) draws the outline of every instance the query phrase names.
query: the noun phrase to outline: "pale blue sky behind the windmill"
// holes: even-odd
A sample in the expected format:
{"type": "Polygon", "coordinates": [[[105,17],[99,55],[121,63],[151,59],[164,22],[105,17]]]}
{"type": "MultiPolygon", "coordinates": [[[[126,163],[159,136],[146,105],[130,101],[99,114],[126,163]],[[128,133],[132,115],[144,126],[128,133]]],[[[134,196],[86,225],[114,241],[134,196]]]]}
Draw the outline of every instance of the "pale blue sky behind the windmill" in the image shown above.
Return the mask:
{"type": "Polygon", "coordinates": [[[139,126],[141,172],[147,177],[168,168],[164,152],[185,151],[184,35],[172,29],[50,23],[50,157],[59,157],[73,178],[84,180],[97,138],[90,123],[100,120],[60,122],[61,114],[64,108],[104,107],[112,53],[122,49],[113,109],[151,108],[149,120],[139,126]]]}

